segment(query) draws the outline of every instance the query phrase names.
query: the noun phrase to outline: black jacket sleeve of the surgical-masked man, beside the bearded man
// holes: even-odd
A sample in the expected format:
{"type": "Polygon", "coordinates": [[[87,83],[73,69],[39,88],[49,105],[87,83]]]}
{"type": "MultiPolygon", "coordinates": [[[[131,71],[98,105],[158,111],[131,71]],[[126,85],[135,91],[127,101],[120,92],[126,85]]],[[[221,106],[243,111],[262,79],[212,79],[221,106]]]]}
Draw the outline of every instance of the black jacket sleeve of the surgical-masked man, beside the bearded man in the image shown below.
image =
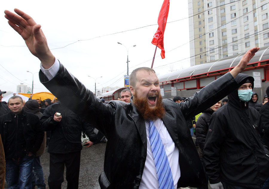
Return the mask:
{"type": "Polygon", "coordinates": [[[211,117],[203,153],[205,170],[210,184],[221,181],[219,152],[226,135],[224,130],[225,123],[223,123],[224,121],[219,119],[218,115],[215,113],[213,113],[211,117]]]}

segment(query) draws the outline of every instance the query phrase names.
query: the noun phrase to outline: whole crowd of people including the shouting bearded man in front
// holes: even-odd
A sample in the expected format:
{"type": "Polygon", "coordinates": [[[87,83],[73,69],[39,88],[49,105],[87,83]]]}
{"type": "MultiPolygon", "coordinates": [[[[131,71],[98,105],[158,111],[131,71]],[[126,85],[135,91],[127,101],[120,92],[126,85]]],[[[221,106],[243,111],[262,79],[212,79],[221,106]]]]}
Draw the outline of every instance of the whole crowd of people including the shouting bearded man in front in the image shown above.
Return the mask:
{"type": "Polygon", "coordinates": [[[5,10],[5,17],[41,61],[40,82],[59,102],[48,102],[39,120],[23,108],[20,97],[9,99],[9,112],[0,117],[5,153],[1,154],[6,160],[0,166],[5,163],[8,188],[33,187],[32,176],[39,175],[33,165],[40,163],[35,156],[48,130],[49,188],[61,188],[64,166],[68,188],[78,188],[79,170],[73,166],[80,163],[79,135],[85,130],[90,138],[85,145],[90,147],[95,140],[91,126],[107,138],[101,189],[208,188],[208,180],[212,189],[268,188],[269,152],[264,133],[268,132],[269,115],[261,112],[268,103],[264,101],[260,107],[252,92],[253,77],[240,73],[259,48],[247,51],[231,71],[194,96],[175,99],[177,102],[162,99],[153,69],[136,68],[121,100],[107,104],[54,57],[41,26],[21,10],[14,11],[16,14],[5,10]],[[220,107],[227,95],[227,103],[220,107]],[[192,127],[196,127],[199,154],[192,127]]]}

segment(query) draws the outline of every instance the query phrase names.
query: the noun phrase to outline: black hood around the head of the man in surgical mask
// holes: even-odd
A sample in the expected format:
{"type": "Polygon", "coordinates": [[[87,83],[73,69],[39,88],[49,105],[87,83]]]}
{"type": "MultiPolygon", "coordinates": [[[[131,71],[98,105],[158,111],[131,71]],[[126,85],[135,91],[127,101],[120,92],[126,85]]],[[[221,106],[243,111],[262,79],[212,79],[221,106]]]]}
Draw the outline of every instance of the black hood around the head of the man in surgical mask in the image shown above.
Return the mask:
{"type": "Polygon", "coordinates": [[[252,84],[252,90],[253,90],[253,88],[254,88],[254,78],[251,77],[251,76],[248,76],[246,74],[239,73],[236,76],[235,80],[238,83],[238,87],[228,95],[228,99],[229,99],[228,103],[233,105],[236,108],[239,108],[239,109],[240,109],[240,107],[246,107],[247,108],[248,107],[248,102],[246,103],[246,106],[245,106],[245,102],[239,99],[237,90],[242,84],[247,83],[247,82],[252,84]]]}

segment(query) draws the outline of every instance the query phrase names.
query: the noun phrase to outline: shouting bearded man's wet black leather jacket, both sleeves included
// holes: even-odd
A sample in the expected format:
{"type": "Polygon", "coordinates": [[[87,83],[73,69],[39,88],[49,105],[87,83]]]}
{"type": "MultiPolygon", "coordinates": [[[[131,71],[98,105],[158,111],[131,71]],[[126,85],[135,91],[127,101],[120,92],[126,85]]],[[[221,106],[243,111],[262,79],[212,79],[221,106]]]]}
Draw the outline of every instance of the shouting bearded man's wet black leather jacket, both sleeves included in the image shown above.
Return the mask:
{"type": "MultiPolygon", "coordinates": [[[[63,65],[56,76],[48,78],[40,71],[40,81],[62,103],[85,120],[97,123],[96,128],[108,139],[104,172],[99,177],[103,188],[139,188],[146,161],[146,128],[142,116],[131,103],[111,100],[104,104],[86,89],[63,65]]],[[[207,188],[204,171],[190,136],[186,119],[212,106],[237,86],[230,73],[187,98],[184,103],[164,99],[165,124],[179,150],[181,177],[179,187],[207,188]]]]}

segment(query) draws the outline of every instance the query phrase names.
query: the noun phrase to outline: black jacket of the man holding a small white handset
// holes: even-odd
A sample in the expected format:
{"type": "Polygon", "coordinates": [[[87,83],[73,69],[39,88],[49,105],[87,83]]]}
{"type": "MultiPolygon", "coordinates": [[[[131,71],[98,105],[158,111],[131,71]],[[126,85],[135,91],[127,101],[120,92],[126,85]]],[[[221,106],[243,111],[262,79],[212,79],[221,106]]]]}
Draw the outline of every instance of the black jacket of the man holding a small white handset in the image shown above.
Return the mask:
{"type": "Polygon", "coordinates": [[[91,142],[94,142],[97,138],[91,124],[84,121],[60,102],[48,106],[40,118],[40,122],[45,131],[51,131],[48,145],[49,153],[59,154],[82,150],[82,130],[88,135],[91,142]],[[56,112],[62,115],[60,122],[53,119],[56,112]]]}

